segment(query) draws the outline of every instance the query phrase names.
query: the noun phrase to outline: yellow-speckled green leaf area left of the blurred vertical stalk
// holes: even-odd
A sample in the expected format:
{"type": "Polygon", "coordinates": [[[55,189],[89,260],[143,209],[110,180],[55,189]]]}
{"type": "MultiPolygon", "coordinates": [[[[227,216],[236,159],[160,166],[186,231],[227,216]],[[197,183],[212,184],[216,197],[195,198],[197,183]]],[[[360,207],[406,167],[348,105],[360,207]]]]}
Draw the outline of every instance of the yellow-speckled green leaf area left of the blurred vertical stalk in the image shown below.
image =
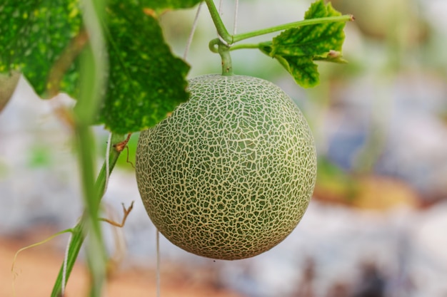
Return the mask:
{"type": "MultiPolygon", "coordinates": [[[[6,0],[0,4],[0,72],[24,73],[36,93],[45,95],[52,66],[79,33],[77,0],[6,0]]],[[[69,63],[61,81],[73,93],[76,65],[69,63]]]]}

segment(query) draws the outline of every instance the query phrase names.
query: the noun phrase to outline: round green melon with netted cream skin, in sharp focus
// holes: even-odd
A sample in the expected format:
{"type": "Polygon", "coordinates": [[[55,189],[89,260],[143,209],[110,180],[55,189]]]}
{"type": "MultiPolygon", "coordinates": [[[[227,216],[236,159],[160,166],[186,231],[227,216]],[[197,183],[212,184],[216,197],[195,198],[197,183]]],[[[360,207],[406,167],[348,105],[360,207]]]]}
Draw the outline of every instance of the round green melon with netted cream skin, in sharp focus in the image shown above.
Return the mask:
{"type": "Polygon", "coordinates": [[[236,260],[271,249],[303,217],[316,149],[280,88],[242,75],[189,81],[189,101],[141,132],[136,179],[152,222],[181,249],[236,260]]]}

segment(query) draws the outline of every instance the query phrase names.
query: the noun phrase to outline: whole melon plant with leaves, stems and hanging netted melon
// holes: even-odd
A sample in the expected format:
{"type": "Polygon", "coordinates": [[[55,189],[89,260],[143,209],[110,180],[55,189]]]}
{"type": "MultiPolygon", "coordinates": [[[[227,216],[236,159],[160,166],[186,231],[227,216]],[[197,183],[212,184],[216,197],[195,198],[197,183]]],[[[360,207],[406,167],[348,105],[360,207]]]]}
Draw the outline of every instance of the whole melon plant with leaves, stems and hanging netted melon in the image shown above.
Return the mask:
{"type": "Polygon", "coordinates": [[[19,73],[42,98],[66,93],[77,100],[73,110],[61,106],[55,113],[76,144],[85,210],[76,226],[59,232],[71,237],[51,296],[65,295],[86,234],[90,296],[101,296],[107,253],[100,202],[132,132],[142,131],[136,158],[141,197],[174,244],[211,258],[243,259],[290,234],[315,182],[312,135],[278,87],[232,75],[230,52],[258,49],[298,85],[313,87],[315,61],[344,62],[343,27],[352,16],[316,0],[302,21],[231,35],[214,1],[204,0],[218,33],[209,48],[221,56],[222,75],[188,81],[190,66],[171,52],[159,18],[201,0],[34,2],[0,5],[0,111],[19,73]],[[271,41],[240,43],[278,31],[271,41]],[[96,172],[91,125],[100,124],[111,134],[96,172]]]}

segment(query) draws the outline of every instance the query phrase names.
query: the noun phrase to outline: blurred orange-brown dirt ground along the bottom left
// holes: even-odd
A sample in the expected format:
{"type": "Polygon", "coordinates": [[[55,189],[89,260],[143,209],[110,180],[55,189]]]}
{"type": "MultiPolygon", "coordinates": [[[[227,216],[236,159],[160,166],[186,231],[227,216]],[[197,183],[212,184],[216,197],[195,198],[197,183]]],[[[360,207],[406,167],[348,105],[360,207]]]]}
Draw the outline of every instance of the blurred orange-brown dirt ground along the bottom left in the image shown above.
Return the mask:
{"type": "MultiPolygon", "coordinates": [[[[12,261],[16,251],[36,241],[0,237],[0,297],[50,296],[52,286],[64,257],[51,244],[27,249],[19,254],[14,273],[12,261]],[[14,288],[13,288],[14,283],[14,288]],[[15,291],[15,294],[14,294],[15,291]]],[[[185,277],[181,268],[167,266],[161,270],[162,297],[242,297],[238,293],[218,288],[209,281],[200,281],[206,272],[185,277]],[[169,277],[166,277],[168,274],[169,277]]],[[[156,296],[155,272],[144,269],[117,269],[109,278],[104,296],[156,296]]],[[[67,297],[87,296],[89,278],[84,264],[78,263],[66,288],[67,297]]]]}

